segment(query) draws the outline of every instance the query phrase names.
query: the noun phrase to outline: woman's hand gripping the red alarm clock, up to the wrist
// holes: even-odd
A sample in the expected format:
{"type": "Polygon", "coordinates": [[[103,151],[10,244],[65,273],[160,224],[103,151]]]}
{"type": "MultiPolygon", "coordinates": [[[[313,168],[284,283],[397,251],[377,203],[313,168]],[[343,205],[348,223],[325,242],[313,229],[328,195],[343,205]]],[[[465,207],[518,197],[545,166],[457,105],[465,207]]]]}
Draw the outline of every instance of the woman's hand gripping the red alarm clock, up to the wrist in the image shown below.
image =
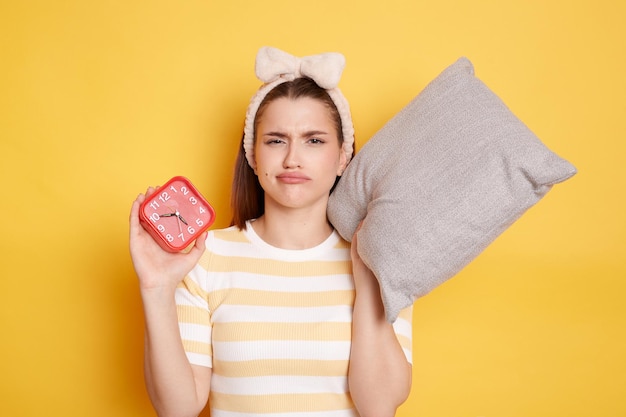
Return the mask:
{"type": "Polygon", "coordinates": [[[207,233],[198,236],[187,253],[163,250],[139,222],[139,206],[154,191],[155,188],[149,187],[145,195],[139,194],[133,202],[130,212],[130,254],[142,291],[174,291],[200,260],[207,233]]]}

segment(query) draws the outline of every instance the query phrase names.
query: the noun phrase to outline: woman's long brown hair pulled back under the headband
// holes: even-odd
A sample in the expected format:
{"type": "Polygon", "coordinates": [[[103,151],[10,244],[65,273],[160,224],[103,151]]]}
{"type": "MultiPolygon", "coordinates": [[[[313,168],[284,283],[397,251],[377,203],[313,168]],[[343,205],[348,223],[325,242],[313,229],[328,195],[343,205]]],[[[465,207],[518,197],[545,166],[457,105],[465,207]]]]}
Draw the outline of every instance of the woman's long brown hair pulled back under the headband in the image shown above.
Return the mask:
{"type": "MultiPolygon", "coordinates": [[[[335,128],[337,129],[337,138],[339,139],[339,146],[341,147],[343,144],[343,134],[339,111],[326,90],[318,86],[309,78],[296,78],[293,81],[284,82],[277,85],[274,89],[267,93],[259,105],[259,109],[255,115],[255,141],[256,129],[263,112],[271,102],[279,98],[288,98],[292,100],[298,98],[311,98],[319,100],[323,103],[328,108],[330,116],[335,124],[335,128]]],[[[239,147],[239,153],[237,154],[237,160],[235,162],[235,174],[233,177],[231,192],[231,208],[233,211],[231,225],[237,226],[240,229],[245,229],[247,220],[256,219],[265,212],[265,192],[263,191],[263,188],[261,188],[261,184],[259,183],[259,179],[254,173],[254,170],[248,164],[245,150],[243,148],[243,138],[239,147]]]]}

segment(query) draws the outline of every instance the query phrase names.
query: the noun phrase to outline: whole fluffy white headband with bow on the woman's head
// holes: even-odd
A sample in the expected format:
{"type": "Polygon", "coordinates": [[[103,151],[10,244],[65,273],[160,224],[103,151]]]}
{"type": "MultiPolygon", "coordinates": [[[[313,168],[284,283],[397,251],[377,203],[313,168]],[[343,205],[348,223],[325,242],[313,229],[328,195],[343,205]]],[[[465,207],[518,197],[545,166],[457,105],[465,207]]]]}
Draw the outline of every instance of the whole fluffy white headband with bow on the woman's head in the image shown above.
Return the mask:
{"type": "Polygon", "coordinates": [[[243,147],[248,164],[252,168],[256,165],[254,161],[254,119],[261,102],[267,93],[277,85],[303,77],[312,79],[317,85],[325,89],[335,103],[341,118],[343,151],[347,161],[350,161],[354,147],[354,127],[348,101],[337,88],[345,64],[344,56],[336,52],[298,58],[276,48],[265,46],[259,49],[255,72],[257,78],[264,84],[250,100],[243,129],[243,147]]]}

